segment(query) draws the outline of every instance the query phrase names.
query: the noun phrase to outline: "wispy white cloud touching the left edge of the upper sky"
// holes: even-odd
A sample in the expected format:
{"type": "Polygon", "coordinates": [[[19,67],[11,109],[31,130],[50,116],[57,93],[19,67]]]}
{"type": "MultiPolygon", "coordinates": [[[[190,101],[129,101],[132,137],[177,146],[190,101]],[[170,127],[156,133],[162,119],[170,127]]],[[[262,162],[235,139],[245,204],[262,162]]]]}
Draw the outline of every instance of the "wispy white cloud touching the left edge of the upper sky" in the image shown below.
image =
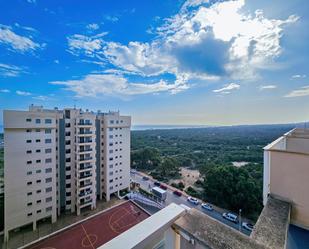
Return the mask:
{"type": "Polygon", "coordinates": [[[0,44],[9,47],[10,50],[16,52],[35,51],[43,48],[45,44],[40,45],[34,42],[31,37],[16,34],[10,26],[0,24],[0,44]]]}

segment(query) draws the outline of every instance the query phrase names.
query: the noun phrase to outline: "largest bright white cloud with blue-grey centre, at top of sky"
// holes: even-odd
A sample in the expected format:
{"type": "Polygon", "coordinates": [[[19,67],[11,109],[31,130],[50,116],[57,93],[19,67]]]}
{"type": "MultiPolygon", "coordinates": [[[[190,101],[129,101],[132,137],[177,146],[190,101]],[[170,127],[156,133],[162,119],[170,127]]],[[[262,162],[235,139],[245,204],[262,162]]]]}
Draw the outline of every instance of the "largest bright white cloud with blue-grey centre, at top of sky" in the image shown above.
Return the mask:
{"type": "Polygon", "coordinates": [[[69,50],[110,63],[127,78],[136,74],[160,81],[172,74],[185,76],[186,85],[196,79],[256,79],[260,70],[274,68],[285,25],[298,17],[270,19],[262,10],[250,13],[244,7],[245,0],[188,0],[156,29],[152,41],[121,44],[75,35],[68,39],[69,50]]]}

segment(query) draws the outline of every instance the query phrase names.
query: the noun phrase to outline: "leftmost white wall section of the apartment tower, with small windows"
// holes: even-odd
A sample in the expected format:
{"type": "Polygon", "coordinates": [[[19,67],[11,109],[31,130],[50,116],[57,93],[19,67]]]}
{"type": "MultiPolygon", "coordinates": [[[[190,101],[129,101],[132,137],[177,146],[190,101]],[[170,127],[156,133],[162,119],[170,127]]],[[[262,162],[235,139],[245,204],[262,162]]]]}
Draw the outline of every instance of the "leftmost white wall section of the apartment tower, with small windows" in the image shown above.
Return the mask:
{"type": "Polygon", "coordinates": [[[32,222],[35,227],[36,221],[45,217],[56,220],[55,120],[54,113],[4,111],[6,235],[9,230],[32,222]],[[26,121],[28,118],[30,122],[26,121]],[[41,122],[36,123],[36,119],[41,122]],[[51,119],[51,124],[45,124],[45,119],[51,119]],[[46,134],[46,129],[50,133],[46,134]],[[46,143],[46,139],[51,139],[51,143],[46,143]],[[52,191],[46,193],[49,187],[52,191]],[[49,197],[51,201],[46,200],[49,197]]]}

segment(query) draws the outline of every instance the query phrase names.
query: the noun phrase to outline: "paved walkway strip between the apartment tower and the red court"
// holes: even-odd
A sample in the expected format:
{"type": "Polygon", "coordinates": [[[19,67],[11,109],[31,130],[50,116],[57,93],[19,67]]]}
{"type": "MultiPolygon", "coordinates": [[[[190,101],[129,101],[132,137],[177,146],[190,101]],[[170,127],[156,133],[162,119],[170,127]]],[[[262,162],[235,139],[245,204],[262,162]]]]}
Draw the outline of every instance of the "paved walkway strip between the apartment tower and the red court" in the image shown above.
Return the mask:
{"type": "Polygon", "coordinates": [[[45,223],[38,224],[37,230],[32,231],[32,226],[21,229],[17,232],[10,232],[10,239],[7,245],[3,243],[3,235],[0,237],[0,245],[2,248],[13,249],[18,248],[23,245],[30,243],[31,241],[37,240],[40,237],[46,236],[50,233],[53,233],[61,228],[64,228],[68,225],[71,225],[77,221],[83,220],[91,215],[94,215],[104,209],[110,208],[114,205],[117,205],[123,200],[119,200],[116,197],[112,198],[109,202],[105,202],[103,200],[97,201],[97,208],[95,210],[85,210],[81,212],[80,216],[77,216],[75,213],[73,214],[63,214],[57,218],[57,222],[51,224],[50,221],[45,223]]]}

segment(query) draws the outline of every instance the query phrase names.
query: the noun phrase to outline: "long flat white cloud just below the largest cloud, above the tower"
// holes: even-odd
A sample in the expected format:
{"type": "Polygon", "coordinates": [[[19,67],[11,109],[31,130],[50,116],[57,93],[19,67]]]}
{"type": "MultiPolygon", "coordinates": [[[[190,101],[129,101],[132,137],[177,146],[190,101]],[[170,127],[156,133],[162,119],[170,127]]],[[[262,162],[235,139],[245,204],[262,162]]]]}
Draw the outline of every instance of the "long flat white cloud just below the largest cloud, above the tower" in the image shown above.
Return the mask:
{"type": "Polygon", "coordinates": [[[66,90],[76,93],[78,97],[95,97],[98,95],[130,96],[138,94],[170,92],[171,94],[186,90],[188,86],[181,79],[174,83],[160,80],[155,83],[128,82],[121,75],[89,74],[80,80],[53,81],[53,85],[64,85],[66,90]]]}

